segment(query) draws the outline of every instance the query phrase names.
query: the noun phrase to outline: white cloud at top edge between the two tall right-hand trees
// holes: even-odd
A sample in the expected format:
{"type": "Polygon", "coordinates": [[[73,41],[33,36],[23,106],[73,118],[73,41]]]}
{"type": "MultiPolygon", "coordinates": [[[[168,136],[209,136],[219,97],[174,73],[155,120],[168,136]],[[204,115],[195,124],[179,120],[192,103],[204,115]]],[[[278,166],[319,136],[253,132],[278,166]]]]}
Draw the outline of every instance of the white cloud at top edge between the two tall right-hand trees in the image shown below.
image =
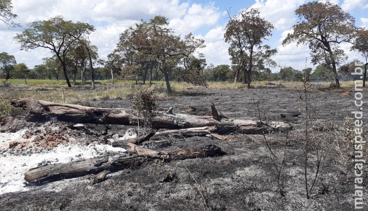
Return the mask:
{"type": "Polygon", "coordinates": [[[285,30],[295,23],[294,11],[304,2],[305,0],[256,0],[251,7],[259,8],[261,15],[276,30],[285,30]]]}

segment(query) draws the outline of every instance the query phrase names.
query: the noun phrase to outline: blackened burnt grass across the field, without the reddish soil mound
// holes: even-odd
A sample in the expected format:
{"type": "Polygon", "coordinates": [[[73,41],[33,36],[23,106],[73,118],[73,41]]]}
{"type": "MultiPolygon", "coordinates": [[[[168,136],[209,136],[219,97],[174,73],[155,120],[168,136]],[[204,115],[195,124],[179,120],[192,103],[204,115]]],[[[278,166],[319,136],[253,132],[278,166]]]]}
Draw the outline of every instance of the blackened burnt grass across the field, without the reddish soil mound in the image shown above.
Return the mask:
{"type": "MultiPolygon", "coordinates": [[[[95,185],[90,183],[89,176],[84,176],[34,186],[26,192],[1,195],[0,210],[353,210],[353,146],[343,138],[344,117],[352,117],[351,111],[355,109],[353,93],[351,96],[342,96],[339,92],[310,93],[311,127],[336,126],[329,131],[309,130],[309,184],[315,175],[316,151],[320,144],[325,146],[320,178],[310,199],[306,198],[304,182],[306,115],[303,111],[299,113],[304,102],[298,91],[276,87],[197,88],[158,101],[158,109],[174,106],[174,113],[210,115],[213,102],[228,118],[257,119],[254,102],[259,101],[262,117],[292,124],[293,130],[289,133],[266,134],[279,158],[286,152],[282,177],[284,196],[278,189],[277,173],[262,135],[227,134],[230,141],[166,136],[161,139],[171,144],[164,148],[156,146],[156,150],[216,144],[228,155],[169,163],[147,161],[142,166],[116,172],[95,185]],[[186,110],[189,107],[191,110],[186,110]],[[175,174],[174,180],[160,182],[168,173],[175,174]]],[[[104,107],[131,108],[129,99],[98,103],[104,107]]],[[[367,117],[363,121],[366,127],[367,117]]],[[[109,129],[121,130],[115,132],[124,134],[124,127],[109,129]]],[[[367,180],[364,174],[364,181],[367,180]]],[[[363,185],[366,186],[366,182],[363,185]]],[[[367,194],[367,188],[364,189],[367,194]]]]}

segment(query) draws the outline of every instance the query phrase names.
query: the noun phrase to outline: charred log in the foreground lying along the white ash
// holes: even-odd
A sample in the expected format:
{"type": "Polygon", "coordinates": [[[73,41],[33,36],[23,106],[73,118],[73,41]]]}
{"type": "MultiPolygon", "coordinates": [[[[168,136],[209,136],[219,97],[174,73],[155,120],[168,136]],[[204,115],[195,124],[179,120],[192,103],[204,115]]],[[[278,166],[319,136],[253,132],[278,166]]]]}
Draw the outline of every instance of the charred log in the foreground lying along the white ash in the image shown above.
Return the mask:
{"type": "Polygon", "coordinates": [[[138,150],[137,155],[132,156],[90,158],[69,163],[55,163],[40,166],[29,169],[25,173],[25,180],[28,183],[42,185],[46,182],[80,177],[88,174],[98,174],[103,171],[105,171],[105,173],[100,176],[105,178],[107,172],[137,167],[144,162],[154,159],[170,162],[174,159],[205,158],[226,155],[226,152],[216,145],[207,145],[175,152],[156,152],[153,150],[149,150],[149,152],[150,153],[147,154],[146,151],[139,152],[138,150]]]}

